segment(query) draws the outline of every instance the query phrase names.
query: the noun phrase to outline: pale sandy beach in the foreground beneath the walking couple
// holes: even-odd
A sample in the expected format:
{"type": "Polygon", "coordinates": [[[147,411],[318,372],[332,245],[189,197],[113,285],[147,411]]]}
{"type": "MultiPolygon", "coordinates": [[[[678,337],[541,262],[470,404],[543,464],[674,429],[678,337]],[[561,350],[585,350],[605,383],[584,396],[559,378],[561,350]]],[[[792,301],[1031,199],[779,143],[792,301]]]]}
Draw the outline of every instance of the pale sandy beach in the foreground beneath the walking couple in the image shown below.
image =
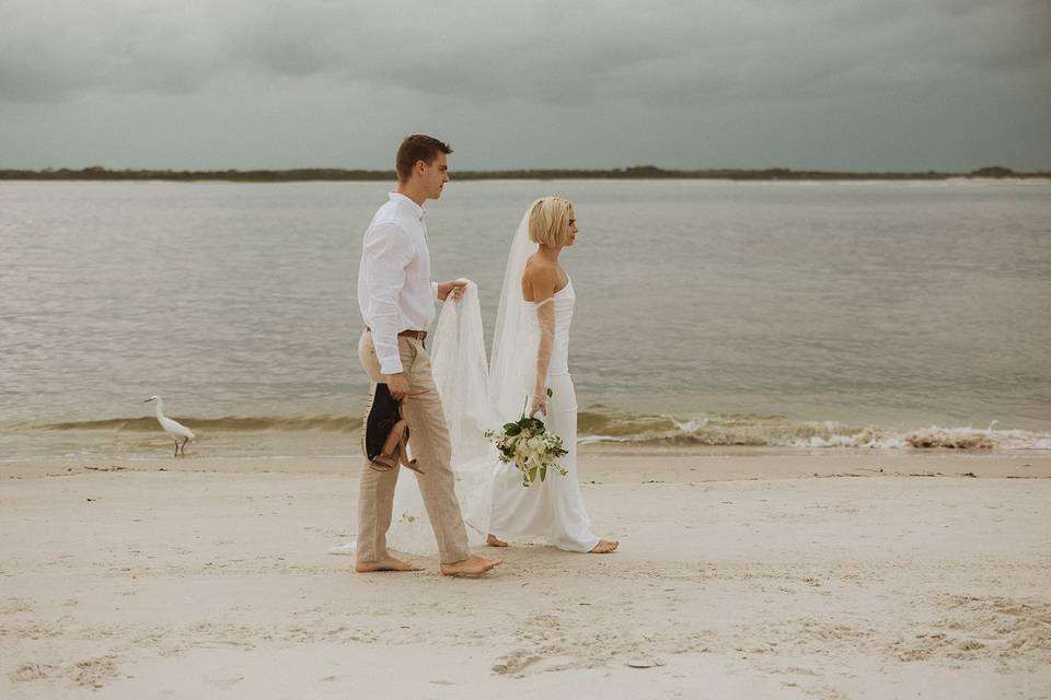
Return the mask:
{"type": "Polygon", "coordinates": [[[326,553],[357,465],[0,464],[0,697],[1051,697],[1051,457],[588,447],[621,550],[485,581],[326,553]]]}

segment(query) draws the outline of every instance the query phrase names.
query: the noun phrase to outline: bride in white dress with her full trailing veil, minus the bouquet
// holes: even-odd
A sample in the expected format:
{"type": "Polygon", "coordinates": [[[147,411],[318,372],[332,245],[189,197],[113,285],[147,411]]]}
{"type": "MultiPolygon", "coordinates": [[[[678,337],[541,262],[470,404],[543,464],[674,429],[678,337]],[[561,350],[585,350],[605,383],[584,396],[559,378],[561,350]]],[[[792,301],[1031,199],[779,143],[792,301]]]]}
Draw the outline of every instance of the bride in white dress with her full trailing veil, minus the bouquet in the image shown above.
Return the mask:
{"type": "MultiPolygon", "coordinates": [[[[467,280],[459,303],[443,304],[435,325],[431,365],[472,545],[545,541],[593,553],[617,548],[619,542],[592,533],[577,483],[577,399],[567,362],[576,295],[558,261],[576,235],[570,201],[544,197],[527,210],[508,255],[488,366],[474,282],[467,280]],[[562,438],[568,454],[559,464],[568,474],[553,472],[523,487],[521,472],[499,462],[484,432],[518,420],[527,401],[529,415],[541,417],[546,430],[562,438]]],[[[419,489],[406,470],[394,491],[386,539],[400,551],[436,551],[419,489]]]]}

